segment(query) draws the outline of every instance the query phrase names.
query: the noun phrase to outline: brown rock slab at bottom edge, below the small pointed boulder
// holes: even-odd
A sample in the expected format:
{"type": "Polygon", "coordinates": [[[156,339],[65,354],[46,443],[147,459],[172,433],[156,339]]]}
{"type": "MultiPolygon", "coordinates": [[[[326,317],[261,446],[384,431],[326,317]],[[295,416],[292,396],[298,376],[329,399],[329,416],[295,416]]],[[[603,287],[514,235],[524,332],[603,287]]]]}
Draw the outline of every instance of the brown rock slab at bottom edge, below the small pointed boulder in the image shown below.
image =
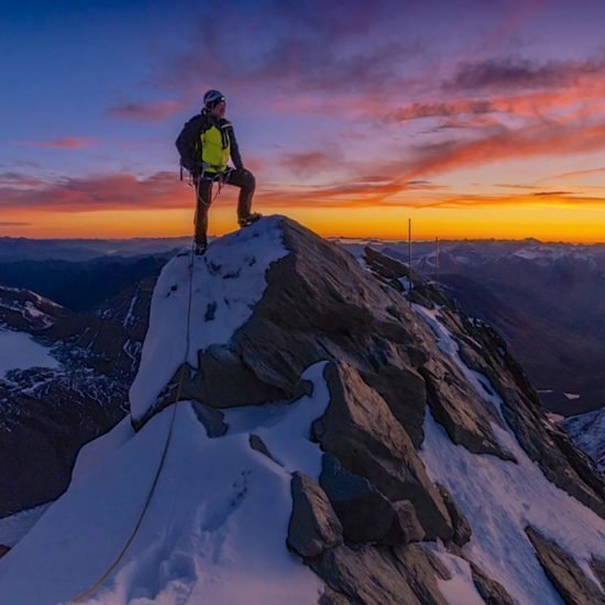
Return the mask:
{"type": "Polygon", "coordinates": [[[349,603],[446,605],[437,580],[449,580],[443,565],[420,546],[346,546],[309,560],[312,570],[349,603]]]}

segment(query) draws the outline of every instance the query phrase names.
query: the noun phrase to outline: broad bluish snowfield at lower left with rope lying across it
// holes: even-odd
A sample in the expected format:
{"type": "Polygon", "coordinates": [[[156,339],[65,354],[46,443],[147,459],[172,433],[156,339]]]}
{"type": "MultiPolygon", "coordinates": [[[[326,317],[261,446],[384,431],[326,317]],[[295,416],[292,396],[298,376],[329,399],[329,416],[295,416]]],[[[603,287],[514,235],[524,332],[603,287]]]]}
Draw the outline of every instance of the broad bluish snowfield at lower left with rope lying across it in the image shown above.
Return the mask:
{"type": "Polygon", "coordinates": [[[301,376],[312,396],[227,410],[210,439],[191,405],[156,415],[136,435],[121,422],[82,449],[75,480],[0,561],[10,603],[67,603],[116,560],[136,526],[174,418],[164,468],[118,571],[88,603],[317,603],[320,580],[286,547],[290,474],[315,480],[321,451],[310,425],[329,400],[323,363],[301,376]],[[260,436],[277,462],[253,450],[260,436]],[[35,573],[33,572],[35,570],[35,573]]]}

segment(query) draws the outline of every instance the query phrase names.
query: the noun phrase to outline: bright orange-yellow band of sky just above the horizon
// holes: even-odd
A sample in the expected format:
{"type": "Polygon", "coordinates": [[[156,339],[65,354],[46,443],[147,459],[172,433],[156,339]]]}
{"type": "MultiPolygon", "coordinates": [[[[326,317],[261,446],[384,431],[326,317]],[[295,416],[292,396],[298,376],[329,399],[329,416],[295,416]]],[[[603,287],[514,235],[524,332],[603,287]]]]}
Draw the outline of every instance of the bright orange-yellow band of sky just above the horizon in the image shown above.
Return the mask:
{"type": "MultiPolygon", "coordinates": [[[[271,206],[255,209],[265,215],[285,215],[322,237],[407,238],[408,218],[413,237],[429,239],[525,239],[574,243],[605,242],[605,205],[516,204],[496,207],[405,208],[371,206],[317,208],[271,206]]],[[[48,238],[173,238],[193,234],[194,210],[97,210],[90,212],[14,212],[11,227],[0,226],[0,234],[34,239],[48,238]]],[[[235,208],[217,204],[210,210],[209,233],[222,235],[237,229],[235,208]]]]}

